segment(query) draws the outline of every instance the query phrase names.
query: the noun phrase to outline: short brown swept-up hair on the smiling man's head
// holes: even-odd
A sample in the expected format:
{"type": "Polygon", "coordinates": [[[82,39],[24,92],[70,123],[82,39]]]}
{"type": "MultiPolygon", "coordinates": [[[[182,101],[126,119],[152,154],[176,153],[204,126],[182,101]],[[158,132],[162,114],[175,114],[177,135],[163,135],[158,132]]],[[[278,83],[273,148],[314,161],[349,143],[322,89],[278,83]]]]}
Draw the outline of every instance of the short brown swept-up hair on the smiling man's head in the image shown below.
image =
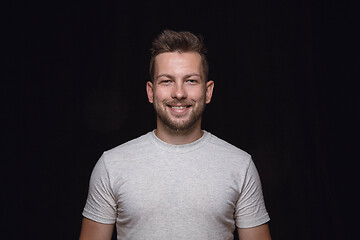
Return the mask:
{"type": "Polygon", "coordinates": [[[152,42],[150,59],[150,79],[154,81],[155,58],[160,53],[165,52],[196,52],[201,56],[201,63],[204,72],[204,79],[207,81],[209,74],[209,64],[206,59],[207,49],[201,36],[196,36],[191,32],[175,32],[164,30],[152,42]]]}

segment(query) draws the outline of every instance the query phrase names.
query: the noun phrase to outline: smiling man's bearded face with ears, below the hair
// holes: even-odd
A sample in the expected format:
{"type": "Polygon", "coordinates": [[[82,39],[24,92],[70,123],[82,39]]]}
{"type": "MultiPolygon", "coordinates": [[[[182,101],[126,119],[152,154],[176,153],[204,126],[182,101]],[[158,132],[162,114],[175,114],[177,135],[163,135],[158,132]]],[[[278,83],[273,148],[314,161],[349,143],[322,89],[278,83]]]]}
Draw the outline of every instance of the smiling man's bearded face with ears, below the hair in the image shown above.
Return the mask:
{"type": "Polygon", "coordinates": [[[158,127],[177,132],[201,128],[201,116],[210,102],[213,82],[205,82],[201,56],[195,52],[166,52],[156,56],[154,82],[147,83],[158,127]]]}

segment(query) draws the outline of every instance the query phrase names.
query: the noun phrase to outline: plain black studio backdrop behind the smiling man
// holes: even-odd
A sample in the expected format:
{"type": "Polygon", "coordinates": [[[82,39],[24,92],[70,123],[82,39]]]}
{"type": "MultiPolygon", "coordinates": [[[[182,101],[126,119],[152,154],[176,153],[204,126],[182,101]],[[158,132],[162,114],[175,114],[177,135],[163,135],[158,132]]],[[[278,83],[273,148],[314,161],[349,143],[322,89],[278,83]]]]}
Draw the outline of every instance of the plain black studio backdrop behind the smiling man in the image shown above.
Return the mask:
{"type": "Polygon", "coordinates": [[[273,239],[354,239],[359,3],[7,7],[4,239],[78,237],[102,152],[155,128],[145,83],[166,28],[204,37],[215,89],[203,128],[253,156],[273,239]]]}

